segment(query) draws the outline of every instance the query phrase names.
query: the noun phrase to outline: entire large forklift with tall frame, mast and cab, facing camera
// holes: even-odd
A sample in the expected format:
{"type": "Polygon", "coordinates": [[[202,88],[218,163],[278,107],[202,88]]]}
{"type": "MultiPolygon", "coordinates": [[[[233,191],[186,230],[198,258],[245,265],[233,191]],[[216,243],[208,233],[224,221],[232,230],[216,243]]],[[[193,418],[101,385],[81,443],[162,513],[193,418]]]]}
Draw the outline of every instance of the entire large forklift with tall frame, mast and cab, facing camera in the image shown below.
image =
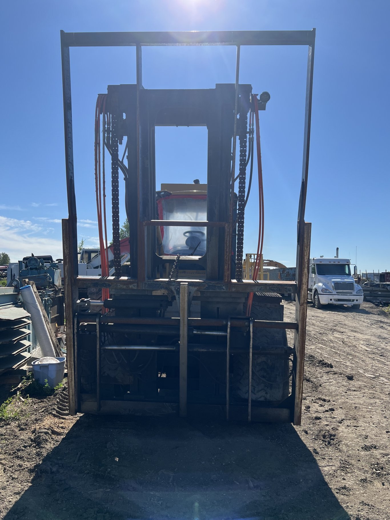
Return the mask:
{"type": "Polygon", "coordinates": [[[304,214],[314,43],[314,29],[61,31],[69,211],[69,217],[62,220],[62,236],[70,413],[301,423],[311,229],[304,214]],[[108,85],[107,93],[98,95],[95,175],[102,275],[80,276],[69,48],[118,45],[136,47],[137,81],[108,85]],[[146,89],[142,86],[141,50],[150,45],[235,46],[236,82],[209,89],[146,89]],[[243,279],[245,206],[255,149],[259,179],[257,257],[262,254],[259,114],[270,100],[267,92],[257,97],[251,85],[239,83],[243,45],[308,47],[295,281],[258,280],[256,266],[253,279],[243,279]],[[166,179],[157,187],[155,127],[199,125],[208,132],[207,183],[194,179],[193,184],[172,184],[166,179]],[[119,146],[125,140],[127,155],[121,159],[119,146]],[[113,274],[105,271],[104,265],[108,248],[102,150],[111,162],[113,274]],[[119,192],[120,172],[125,180],[123,193],[119,192]],[[129,222],[129,260],[124,263],[120,204],[129,222]],[[101,301],[81,297],[81,288],[101,291],[101,301]],[[295,298],[294,321],[283,320],[281,294],[295,298]],[[96,305],[100,305],[98,313],[92,312],[96,305]],[[292,345],[288,345],[287,329],[294,331],[292,345]]]}

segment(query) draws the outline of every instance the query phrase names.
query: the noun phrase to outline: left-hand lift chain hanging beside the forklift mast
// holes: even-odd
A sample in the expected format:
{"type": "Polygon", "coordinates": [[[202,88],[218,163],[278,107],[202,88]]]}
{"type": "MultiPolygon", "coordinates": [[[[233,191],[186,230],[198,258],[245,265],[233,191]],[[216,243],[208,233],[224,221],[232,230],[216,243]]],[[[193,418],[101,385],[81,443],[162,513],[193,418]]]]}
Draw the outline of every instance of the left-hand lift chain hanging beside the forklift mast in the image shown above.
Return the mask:
{"type": "Polygon", "coordinates": [[[115,276],[122,276],[121,244],[119,235],[119,157],[118,137],[116,135],[116,114],[111,116],[111,196],[112,196],[112,244],[115,276]]]}

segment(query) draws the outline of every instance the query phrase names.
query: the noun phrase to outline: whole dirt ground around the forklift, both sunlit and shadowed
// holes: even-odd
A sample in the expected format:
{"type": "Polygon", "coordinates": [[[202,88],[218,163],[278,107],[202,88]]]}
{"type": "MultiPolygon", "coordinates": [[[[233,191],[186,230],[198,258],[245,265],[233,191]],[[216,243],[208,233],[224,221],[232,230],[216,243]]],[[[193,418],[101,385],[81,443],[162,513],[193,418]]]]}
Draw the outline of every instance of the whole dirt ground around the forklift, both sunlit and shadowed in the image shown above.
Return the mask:
{"type": "Polygon", "coordinates": [[[66,387],[20,401],[0,420],[0,518],[386,520],[389,349],[372,304],[309,306],[301,427],[69,417],[66,387]]]}

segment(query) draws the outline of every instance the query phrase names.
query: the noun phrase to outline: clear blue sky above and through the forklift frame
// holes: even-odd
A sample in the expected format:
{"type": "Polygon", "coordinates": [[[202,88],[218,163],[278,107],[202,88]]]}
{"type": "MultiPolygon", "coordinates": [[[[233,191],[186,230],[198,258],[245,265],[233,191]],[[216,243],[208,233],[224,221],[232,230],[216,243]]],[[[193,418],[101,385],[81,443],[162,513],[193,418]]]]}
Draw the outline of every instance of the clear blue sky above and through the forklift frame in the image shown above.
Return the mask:
{"type": "MultiPolygon", "coordinates": [[[[390,269],[387,201],[390,37],[387,1],[22,0],[2,6],[0,251],[62,256],[67,216],[59,31],[302,30],[316,27],[306,220],[311,254],[390,269]]],[[[243,47],[240,82],[271,99],[261,113],[264,257],[295,265],[302,174],[307,49],[243,47]]],[[[98,243],[94,110],[108,84],[135,81],[134,48],[71,49],[78,235],[98,243]]],[[[143,51],[145,88],[232,83],[233,47],[143,51]]],[[[159,128],[157,178],[205,178],[204,128],[159,128]]],[[[123,188],[123,184],[121,184],[123,188]]],[[[257,245],[256,185],[246,210],[245,252],[257,245]]],[[[123,189],[122,189],[123,194],[123,189]]],[[[125,218],[121,205],[121,221],[125,218]]]]}

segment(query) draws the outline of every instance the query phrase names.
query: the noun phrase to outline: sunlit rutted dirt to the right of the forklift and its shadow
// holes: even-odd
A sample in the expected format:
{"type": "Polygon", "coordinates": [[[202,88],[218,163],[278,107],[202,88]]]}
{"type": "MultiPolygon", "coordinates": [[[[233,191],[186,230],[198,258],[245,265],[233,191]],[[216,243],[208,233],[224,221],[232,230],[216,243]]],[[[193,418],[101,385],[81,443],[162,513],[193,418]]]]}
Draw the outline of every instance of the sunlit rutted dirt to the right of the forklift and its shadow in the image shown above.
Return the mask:
{"type": "MultiPolygon", "coordinates": [[[[390,316],[366,302],[360,310],[307,310],[303,418],[296,430],[349,518],[385,520],[390,316]]],[[[294,312],[294,303],[284,302],[284,319],[294,319],[294,312]]]]}

